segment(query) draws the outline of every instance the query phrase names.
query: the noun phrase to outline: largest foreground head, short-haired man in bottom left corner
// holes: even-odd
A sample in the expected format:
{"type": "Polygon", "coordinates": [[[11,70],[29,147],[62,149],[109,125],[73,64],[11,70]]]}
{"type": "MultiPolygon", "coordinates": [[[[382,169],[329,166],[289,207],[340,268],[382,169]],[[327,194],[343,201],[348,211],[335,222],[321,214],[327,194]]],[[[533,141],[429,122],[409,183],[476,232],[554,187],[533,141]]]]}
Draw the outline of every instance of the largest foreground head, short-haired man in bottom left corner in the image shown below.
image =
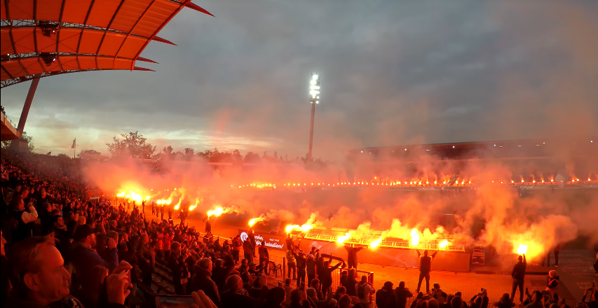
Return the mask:
{"type": "Polygon", "coordinates": [[[52,237],[27,237],[8,253],[11,282],[20,297],[43,306],[69,295],[71,275],[52,237]]]}

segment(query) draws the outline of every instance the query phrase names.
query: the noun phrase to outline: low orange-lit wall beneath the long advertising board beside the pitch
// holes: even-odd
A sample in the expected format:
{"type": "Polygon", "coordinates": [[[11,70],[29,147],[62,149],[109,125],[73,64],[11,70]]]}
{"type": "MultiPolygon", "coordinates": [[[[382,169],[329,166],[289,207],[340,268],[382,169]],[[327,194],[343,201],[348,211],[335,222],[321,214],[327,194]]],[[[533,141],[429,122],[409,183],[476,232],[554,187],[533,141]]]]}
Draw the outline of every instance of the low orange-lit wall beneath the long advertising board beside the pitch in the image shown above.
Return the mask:
{"type": "MultiPolygon", "coordinates": [[[[316,241],[311,239],[301,240],[299,248],[306,253],[311,246],[320,249],[320,253],[338,256],[346,260],[347,251],[343,245],[330,241],[316,241]]],[[[420,251],[423,253],[423,251],[420,251]]],[[[434,251],[430,251],[430,255],[434,251]]],[[[358,253],[358,262],[375,265],[386,265],[396,267],[419,267],[419,257],[415,249],[403,248],[364,248],[358,253]]],[[[450,272],[469,272],[470,253],[459,251],[439,251],[432,261],[433,270],[450,272]]]]}

